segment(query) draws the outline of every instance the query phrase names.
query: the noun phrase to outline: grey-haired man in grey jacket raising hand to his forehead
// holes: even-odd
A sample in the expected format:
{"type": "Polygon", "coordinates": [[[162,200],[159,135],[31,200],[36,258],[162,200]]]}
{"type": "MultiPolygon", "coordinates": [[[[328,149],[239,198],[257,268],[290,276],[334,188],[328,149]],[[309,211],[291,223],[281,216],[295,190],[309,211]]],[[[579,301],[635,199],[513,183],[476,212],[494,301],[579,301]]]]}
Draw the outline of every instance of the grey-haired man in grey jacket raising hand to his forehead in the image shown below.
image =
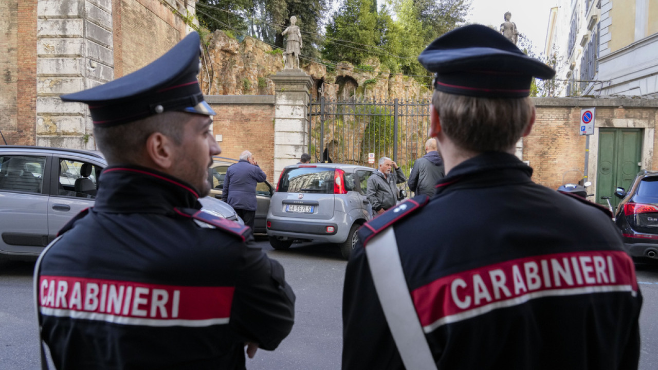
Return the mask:
{"type": "Polygon", "coordinates": [[[372,205],[372,216],[381,215],[397,203],[397,186],[407,181],[405,174],[389,157],[379,159],[379,169],[368,178],[367,197],[372,205]],[[395,171],[392,171],[395,169],[395,171]]]}

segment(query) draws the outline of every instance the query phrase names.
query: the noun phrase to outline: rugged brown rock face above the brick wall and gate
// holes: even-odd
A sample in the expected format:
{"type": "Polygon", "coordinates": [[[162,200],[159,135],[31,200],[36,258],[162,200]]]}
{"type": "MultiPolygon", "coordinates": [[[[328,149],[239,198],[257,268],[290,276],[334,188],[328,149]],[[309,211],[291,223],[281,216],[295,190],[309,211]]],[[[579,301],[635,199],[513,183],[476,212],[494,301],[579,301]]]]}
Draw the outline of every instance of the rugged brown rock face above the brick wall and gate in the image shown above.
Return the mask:
{"type": "MultiPolygon", "coordinates": [[[[200,76],[201,90],[208,95],[271,95],[274,84],[270,76],[283,70],[282,54],[270,45],[253,38],[238,41],[217,30],[209,36],[207,60],[200,76]]],[[[302,61],[303,62],[303,61],[302,61]]],[[[413,78],[390,74],[376,60],[367,61],[372,71],[359,70],[349,63],[339,63],[327,72],[320,63],[301,63],[313,78],[311,97],[316,99],[430,99],[432,92],[413,78]],[[382,70],[380,70],[382,69],[382,70]]]]}

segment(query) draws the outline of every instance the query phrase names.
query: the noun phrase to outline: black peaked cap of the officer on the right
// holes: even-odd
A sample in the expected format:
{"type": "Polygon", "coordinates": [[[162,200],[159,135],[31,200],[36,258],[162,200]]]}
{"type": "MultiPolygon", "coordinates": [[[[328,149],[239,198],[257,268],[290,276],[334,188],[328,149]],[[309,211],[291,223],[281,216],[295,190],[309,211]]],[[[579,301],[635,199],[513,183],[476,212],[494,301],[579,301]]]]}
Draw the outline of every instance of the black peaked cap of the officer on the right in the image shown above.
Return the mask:
{"type": "Polygon", "coordinates": [[[447,32],[430,43],[418,61],[436,73],[436,90],[474,97],[526,97],[533,77],[545,80],[555,76],[553,68],[480,24],[447,32]]]}

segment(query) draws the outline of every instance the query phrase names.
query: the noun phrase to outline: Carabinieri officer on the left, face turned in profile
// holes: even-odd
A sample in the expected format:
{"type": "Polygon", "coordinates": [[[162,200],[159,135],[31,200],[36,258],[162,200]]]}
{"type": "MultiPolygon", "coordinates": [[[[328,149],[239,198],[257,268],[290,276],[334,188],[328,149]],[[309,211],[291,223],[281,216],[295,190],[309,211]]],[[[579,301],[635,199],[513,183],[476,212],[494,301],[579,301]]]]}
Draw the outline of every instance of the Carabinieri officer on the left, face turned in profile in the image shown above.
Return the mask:
{"type": "Polygon", "coordinates": [[[197,74],[199,35],[105,85],[89,105],[109,167],[95,207],[36,264],[41,338],[67,369],[245,369],[293,325],[284,269],[251,230],[201,211],[220,148],[197,74]]]}

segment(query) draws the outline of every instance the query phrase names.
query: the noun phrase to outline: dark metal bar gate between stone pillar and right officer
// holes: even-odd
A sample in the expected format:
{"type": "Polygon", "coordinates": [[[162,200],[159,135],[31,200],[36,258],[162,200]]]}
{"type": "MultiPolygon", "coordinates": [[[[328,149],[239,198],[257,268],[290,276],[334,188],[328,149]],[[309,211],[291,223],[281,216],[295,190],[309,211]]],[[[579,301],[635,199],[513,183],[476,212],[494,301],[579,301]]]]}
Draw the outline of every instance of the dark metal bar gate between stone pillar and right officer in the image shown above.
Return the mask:
{"type": "Polygon", "coordinates": [[[390,157],[406,176],[425,155],[430,101],[332,101],[311,103],[309,154],[315,162],[377,167],[390,157]],[[374,157],[374,163],[368,163],[374,157]]]}

